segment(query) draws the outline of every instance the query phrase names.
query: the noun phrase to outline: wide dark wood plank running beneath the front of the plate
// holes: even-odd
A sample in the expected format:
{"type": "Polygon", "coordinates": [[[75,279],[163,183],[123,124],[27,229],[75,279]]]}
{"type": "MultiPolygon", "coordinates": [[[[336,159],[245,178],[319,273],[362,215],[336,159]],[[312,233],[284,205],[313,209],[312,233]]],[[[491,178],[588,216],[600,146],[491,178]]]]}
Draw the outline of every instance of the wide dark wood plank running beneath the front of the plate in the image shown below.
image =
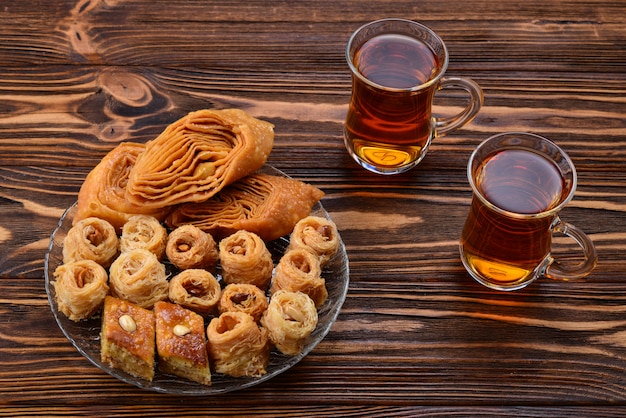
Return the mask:
{"type": "MultiPolygon", "coordinates": [[[[239,407],[271,393],[281,394],[273,405],[283,407],[310,406],[322,397],[329,405],[358,398],[362,405],[404,406],[624,401],[625,297],[598,308],[597,299],[609,289],[605,284],[570,283],[564,292],[541,283],[503,297],[485,294],[469,280],[445,284],[421,276],[405,274],[402,282],[384,274],[379,281],[355,278],[339,320],[313,353],[270,382],[215,398],[239,407]],[[462,389],[459,381],[472,384],[462,389]],[[508,388],[506,402],[496,381],[508,388]]],[[[145,391],[100,372],[69,346],[46,314],[40,283],[29,283],[0,289],[0,314],[21,324],[19,334],[11,322],[0,324],[0,378],[19,374],[0,399],[78,406],[145,399],[145,391]],[[33,295],[22,290],[29,287],[33,295]],[[103,389],[106,398],[98,396],[103,389]]],[[[626,294],[621,283],[612,288],[615,295],[626,294]]],[[[154,402],[165,406],[174,399],[154,402]]],[[[196,402],[203,399],[185,398],[187,405],[196,402]]]]}

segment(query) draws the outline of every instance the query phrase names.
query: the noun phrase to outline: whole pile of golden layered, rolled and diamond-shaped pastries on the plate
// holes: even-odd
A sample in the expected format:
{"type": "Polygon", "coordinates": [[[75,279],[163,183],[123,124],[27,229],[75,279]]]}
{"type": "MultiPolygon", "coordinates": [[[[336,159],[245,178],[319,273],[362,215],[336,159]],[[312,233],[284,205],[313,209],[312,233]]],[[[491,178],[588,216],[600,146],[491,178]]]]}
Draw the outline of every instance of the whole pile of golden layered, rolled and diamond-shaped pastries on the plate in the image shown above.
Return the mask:
{"type": "Polygon", "coordinates": [[[211,371],[265,374],[272,348],[302,351],[339,237],[310,216],[321,190],[257,172],[272,144],[267,122],[201,110],[87,176],[53,285],[69,319],[102,312],[104,363],[210,385],[211,371]],[[286,235],[275,265],[266,244],[286,235]]]}

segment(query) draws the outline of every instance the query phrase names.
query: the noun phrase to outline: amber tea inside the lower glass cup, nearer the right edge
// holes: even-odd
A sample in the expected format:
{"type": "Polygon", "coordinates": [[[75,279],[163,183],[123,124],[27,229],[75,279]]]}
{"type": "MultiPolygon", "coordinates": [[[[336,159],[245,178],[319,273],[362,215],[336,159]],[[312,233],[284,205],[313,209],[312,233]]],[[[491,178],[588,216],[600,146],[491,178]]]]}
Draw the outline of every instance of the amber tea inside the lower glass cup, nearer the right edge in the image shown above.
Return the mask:
{"type": "MultiPolygon", "coordinates": [[[[544,157],[505,150],[476,173],[476,187],[492,205],[512,213],[537,214],[561,202],[563,179],[544,157]]],[[[524,280],[550,251],[551,218],[519,220],[490,210],[474,198],[461,245],[472,269],[496,282],[524,280]]]]}

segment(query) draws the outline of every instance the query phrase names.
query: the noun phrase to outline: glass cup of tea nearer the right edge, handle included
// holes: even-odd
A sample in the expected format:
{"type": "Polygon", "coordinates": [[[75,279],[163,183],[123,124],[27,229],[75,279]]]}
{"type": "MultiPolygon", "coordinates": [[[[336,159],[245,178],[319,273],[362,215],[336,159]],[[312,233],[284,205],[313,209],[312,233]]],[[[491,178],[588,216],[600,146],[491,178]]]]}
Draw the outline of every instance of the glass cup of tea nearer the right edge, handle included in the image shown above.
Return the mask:
{"type": "Polygon", "coordinates": [[[492,136],[472,153],[467,176],[473,197],[460,239],[461,260],[479,283],[521,289],[535,279],[582,278],[597,253],[589,237],[559,217],[576,190],[576,169],[556,144],[530,133],[492,136]],[[581,263],[551,255],[552,236],[581,247],[581,263]]]}

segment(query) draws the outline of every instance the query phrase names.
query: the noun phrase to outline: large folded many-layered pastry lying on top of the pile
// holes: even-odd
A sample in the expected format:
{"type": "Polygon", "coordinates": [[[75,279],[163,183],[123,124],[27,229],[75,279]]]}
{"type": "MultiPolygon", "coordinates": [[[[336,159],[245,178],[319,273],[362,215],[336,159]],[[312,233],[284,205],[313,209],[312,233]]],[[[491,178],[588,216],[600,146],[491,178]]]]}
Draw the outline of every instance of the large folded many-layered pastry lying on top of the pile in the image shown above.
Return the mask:
{"type": "Polygon", "coordinates": [[[146,144],[126,199],[149,208],[205,201],[261,168],[273,145],[274,125],[242,110],[189,113],[146,144]]]}

